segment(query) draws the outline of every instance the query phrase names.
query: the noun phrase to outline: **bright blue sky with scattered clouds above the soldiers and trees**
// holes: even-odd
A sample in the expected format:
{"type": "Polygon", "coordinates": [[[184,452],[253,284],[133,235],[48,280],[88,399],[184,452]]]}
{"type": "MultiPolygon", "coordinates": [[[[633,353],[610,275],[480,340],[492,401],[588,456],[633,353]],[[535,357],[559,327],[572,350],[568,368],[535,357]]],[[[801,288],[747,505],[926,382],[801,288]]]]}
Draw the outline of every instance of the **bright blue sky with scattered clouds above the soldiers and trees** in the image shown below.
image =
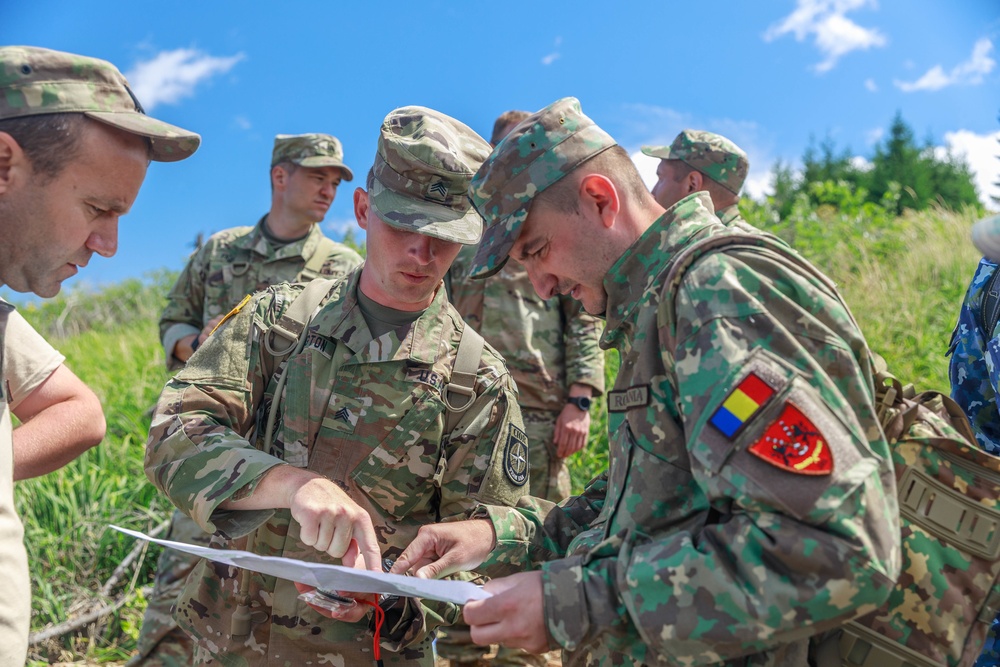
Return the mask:
{"type": "MultiPolygon", "coordinates": [[[[0,43],[105,58],[152,115],[199,132],[153,164],[118,254],[66,285],[179,269],[196,235],[253,224],[270,203],[277,133],[328,132],[357,176],[324,221],[353,226],[382,118],[433,107],[485,136],[501,112],[560,97],[633,154],[684,128],[749,154],[747,191],[829,136],[870,156],[901,111],[920,140],[962,153],[1000,195],[997,0],[668,0],[504,3],[7,0],[0,43]]],[[[655,161],[638,156],[647,179],[655,161]]],[[[990,190],[992,188],[992,190],[990,190]]],[[[994,207],[995,208],[995,207],[994,207]]],[[[359,230],[360,231],[360,230],[359,230]]],[[[15,301],[23,295],[12,295],[15,301]]]]}

